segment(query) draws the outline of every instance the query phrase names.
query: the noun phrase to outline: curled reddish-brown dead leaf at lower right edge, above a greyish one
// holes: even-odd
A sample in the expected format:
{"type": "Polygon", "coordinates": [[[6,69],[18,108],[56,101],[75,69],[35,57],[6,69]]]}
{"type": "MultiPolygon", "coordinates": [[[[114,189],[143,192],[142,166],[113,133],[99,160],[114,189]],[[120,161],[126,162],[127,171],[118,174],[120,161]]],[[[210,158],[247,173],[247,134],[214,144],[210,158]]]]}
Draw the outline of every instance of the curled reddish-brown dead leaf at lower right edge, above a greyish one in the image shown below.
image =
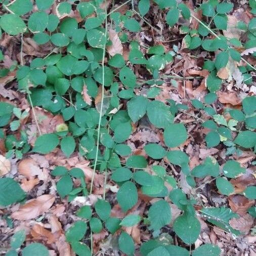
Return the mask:
{"type": "Polygon", "coordinates": [[[242,195],[231,195],[228,199],[231,209],[240,216],[245,215],[247,210],[254,204],[254,200],[249,200],[242,195]]]}

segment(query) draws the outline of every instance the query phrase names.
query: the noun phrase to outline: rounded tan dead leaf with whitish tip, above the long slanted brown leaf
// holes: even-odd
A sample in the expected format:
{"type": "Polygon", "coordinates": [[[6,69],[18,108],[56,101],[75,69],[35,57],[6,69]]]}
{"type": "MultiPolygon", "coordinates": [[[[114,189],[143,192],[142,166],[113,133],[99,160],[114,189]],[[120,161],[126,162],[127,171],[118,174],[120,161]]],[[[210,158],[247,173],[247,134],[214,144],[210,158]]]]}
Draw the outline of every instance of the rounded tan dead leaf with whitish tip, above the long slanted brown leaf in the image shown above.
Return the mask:
{"type": "Polygon", "coordinates": [[[34,176],[38,176],[39,180],[44,180],[42,170],[31,158],[25,158],[19,162],[18,172],[19,174],[25,176],[28,179],[32,179],[34,176]]]}

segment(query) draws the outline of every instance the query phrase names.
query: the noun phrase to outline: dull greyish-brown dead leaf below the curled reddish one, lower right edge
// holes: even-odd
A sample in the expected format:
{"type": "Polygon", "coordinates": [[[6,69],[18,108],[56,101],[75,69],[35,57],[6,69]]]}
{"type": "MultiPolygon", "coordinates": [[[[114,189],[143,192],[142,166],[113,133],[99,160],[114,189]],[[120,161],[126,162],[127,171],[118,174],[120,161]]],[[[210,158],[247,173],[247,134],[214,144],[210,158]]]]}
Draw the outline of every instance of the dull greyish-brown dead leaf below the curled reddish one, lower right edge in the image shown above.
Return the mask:
{"type": "Polygon", "coordinates": [[[239,230],[247,235],[253,226],[253,221],[254,219],[249,214],[246,214],[243,217],[231,219],[229,224],[233,229],[239,230]]]}

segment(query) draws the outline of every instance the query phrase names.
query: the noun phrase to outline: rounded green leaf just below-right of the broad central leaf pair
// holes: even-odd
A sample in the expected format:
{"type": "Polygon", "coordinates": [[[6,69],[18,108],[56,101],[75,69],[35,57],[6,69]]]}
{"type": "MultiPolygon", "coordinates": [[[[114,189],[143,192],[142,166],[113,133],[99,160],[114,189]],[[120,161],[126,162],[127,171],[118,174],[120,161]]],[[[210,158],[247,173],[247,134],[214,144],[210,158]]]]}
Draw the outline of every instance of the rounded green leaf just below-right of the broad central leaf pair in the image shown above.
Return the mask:
{"type": "Polygon", "coordinates": [[[186,127],[183,123],[169,124],[163,132],[164,143],[167,147],[178,147],[188,138],[186,127]]]}

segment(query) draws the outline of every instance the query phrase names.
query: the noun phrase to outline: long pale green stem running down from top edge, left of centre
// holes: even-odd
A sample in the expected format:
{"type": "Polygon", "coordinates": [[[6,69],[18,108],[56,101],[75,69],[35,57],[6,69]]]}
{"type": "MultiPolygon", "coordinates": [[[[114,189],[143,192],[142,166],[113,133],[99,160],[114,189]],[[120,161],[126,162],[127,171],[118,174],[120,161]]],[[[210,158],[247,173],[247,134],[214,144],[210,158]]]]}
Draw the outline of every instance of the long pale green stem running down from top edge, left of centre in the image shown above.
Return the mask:
{"type": "MultiPolygon", "coordinates": [[[[105,36],[107,37],[107,4],[105,0],[105,36]]],[[[102,118],[102,110],[103,110],[103,101],[104,101],[104,83],[105,83],[105,76],[104,76],[104,59],[105,59],[105,53],[106,52],[106,42],[103,47],[103,56],[102,56],[102,92],[101,92],[101,108],[100,108],[100,117],[99,117],[99,123],[98,123],[98,135],[97,135],[97,145],[96,145],[96,156],[95,156],[95,163],[93,168],[93,176],[91,181],[91,188],[90,188],[90,194],[93,192],[93,182],[96,172],[96,165],[98,161],[98,153],[99,153],[99,144],[100,144],[100,127],[101,127],[101,118],[102,118]]]]}

